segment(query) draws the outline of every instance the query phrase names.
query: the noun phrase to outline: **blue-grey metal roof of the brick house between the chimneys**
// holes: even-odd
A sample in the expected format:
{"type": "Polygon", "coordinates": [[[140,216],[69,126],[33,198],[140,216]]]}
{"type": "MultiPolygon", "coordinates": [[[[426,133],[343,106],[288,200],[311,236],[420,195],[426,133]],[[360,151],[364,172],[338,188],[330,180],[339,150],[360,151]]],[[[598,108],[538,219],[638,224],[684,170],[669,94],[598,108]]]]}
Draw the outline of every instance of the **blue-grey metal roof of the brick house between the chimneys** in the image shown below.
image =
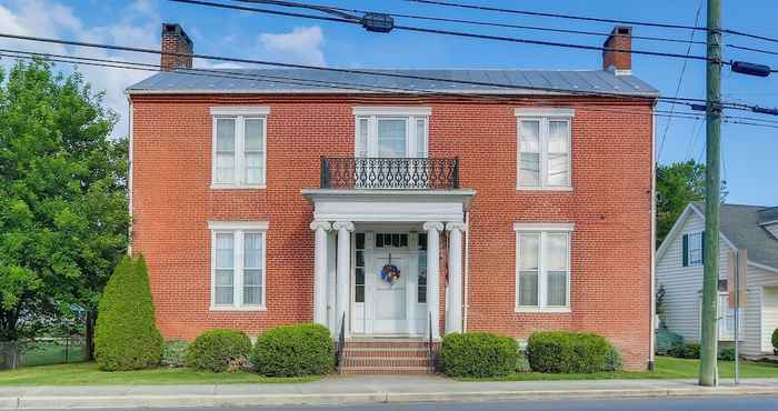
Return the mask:
{"type": "Polygon", "coordinates": [[[141,93],[358,93],[438,91],[446,93],[546,94],[610,93],[657,97],[659,91],[635,76],[610,71],[535,70],[359,70],[218,69],[166,71],[127,89],[141,93]],[[376,73],[376,74],[373,74],[376,73]],[[390,76],[381,76],[390,74],[390,76]],[[393,76],[393,77],[392,77],[393,76]],[[411,76],[417,78],[398,77],[411,76]],[[418,79],[425,78],[425,79],[418,79]],[[440,80],[437,80],[440,79],[440,80]],[[448,81],[446,81],[448,80],[448,81]],[[468,84],[475,81],[488,84],[468,84]],[[365,88],[353,90],[353,88],[365,88]]]}

